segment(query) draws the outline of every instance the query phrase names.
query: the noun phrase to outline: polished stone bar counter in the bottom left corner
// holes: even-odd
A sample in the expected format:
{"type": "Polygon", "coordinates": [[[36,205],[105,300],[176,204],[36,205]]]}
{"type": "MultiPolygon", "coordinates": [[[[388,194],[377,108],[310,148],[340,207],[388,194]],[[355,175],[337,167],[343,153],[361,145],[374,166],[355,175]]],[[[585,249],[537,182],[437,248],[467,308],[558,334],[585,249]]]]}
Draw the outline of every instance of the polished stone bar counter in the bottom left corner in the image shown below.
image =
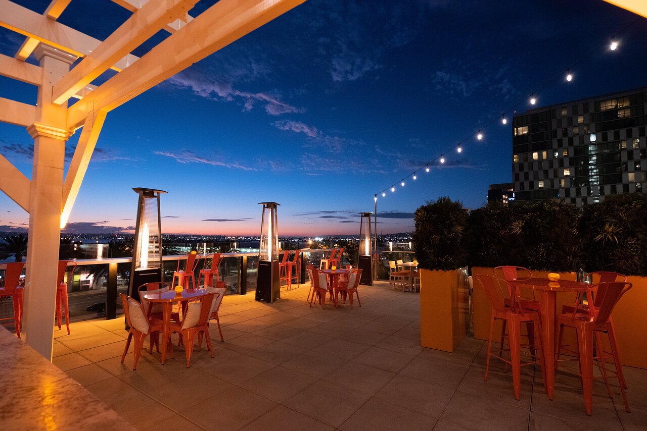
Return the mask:
{"type": "Polygon", "coordinates": [[[0,429],[135,430],[65,372],[1,326],[0,429]]]}

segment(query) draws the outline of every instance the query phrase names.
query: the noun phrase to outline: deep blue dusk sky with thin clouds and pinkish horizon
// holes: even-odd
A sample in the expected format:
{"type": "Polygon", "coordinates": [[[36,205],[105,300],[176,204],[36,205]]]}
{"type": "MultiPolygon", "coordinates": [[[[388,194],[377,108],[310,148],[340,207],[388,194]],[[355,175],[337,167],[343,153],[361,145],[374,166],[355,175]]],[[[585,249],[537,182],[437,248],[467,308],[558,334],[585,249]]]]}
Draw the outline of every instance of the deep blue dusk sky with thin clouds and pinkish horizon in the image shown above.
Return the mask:
{"type": "MultiPolygon", "coordinates": [[[[49,0],[15,3],[42,13],[49,0]]],[[[129,16],[108,0],[72,0],[58,21],[103,40],[129,16]]],[[[511,121],[461,154],[446,150],[636,17],[600,0],[307,0],[110,112],[66,230],[134,226],[133,187],[168,191],[164,233],[258,235],[258,202],[275,201],[280,235],[354,234],[356,214],[392,184],[378,195],[379,233],[411,231],[411,213],[439,196],[480,207],[489,184],[511,180],[511,121]],[[400,187],[441,153],[443,167],[400,187]]],[[[646,34],[641,18],[617,50],[600,48],[573,81],[537,92],[536,107],[646,86],[646,34]]],[[[14,56],[23,39],[0,28],[0,53],[14,56]]],[[[0,96],[35,104],[36,87],[0,77],[0,96]]],[[[0,154],[28,178],[32,151],[23,127],[0,123],[0,154]]],[[[0,231],[27,221],[0,194],[0,231]]]]}

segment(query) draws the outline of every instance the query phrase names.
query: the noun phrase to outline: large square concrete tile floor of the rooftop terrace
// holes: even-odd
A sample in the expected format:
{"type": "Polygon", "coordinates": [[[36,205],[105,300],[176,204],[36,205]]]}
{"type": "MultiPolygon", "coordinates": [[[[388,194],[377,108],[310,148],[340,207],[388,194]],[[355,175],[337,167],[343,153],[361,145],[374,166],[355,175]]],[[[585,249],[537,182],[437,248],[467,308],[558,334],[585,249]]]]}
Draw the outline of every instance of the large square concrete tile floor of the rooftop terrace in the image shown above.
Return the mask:
{"type": "Polygon", "coordinates": [[[212,326],[215,358],[194,352],[189,369],[177,346],[164,365],[148,352],[136,371],[132,353],[121,364],[121,318],[54,331],[54,364],[142,430],[647,429],[647,370],[624,368],[630,414],[617,386],[612,400],[597,381],[587,417],[578,378],[562,370],[549,401],[540,370],[525,368],[516,401],[502,364],[483,381],[485,342],[419,346],[419,295],[379,282],[360,288],[362,307],[322,310],[307,306],[308,289],[275,304],[225,297],[225,342],[212,326]]]}

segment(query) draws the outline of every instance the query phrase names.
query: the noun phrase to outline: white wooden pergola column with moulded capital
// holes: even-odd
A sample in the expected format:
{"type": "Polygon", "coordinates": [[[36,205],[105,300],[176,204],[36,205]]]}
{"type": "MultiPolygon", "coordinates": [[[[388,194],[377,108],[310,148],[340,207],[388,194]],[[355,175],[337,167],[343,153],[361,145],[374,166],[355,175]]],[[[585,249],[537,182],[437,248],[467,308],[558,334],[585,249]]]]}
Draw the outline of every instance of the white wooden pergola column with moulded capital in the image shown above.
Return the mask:
{"type": "Polygon", "coordinates": [[[73,133],[65,129],[67,107],[52,103],[52,87],[69,72],[76,57],[42,43],[34,54],[43,68],[43,83],[38,90],[36,121],[27,127],[34,138],[34,165],[23,337],[36,352],[51,361],[65,142],[73,133]]]}

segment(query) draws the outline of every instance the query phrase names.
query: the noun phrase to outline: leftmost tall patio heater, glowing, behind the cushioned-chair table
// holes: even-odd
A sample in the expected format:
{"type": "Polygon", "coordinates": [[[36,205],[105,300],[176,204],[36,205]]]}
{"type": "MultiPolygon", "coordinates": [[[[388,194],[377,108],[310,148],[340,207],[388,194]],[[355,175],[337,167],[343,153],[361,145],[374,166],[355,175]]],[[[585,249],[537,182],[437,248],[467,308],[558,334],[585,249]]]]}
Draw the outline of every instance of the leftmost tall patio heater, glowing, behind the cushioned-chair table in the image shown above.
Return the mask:
{"type": "Polygon", "coordinates": [[[166,192],[142,187],[133,190],[139,194],[139,202],[128,295],[139,300],[139,286],[163,281],[160,194],[166,192]]]}

